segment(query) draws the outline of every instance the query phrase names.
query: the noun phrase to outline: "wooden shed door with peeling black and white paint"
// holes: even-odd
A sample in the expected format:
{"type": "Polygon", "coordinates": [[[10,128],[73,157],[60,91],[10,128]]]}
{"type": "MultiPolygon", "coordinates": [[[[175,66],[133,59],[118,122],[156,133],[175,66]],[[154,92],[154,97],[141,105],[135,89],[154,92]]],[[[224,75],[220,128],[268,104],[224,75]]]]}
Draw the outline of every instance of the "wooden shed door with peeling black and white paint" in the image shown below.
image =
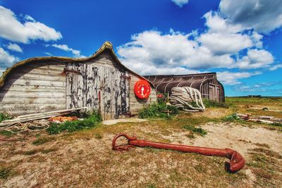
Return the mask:
{"type": "Polygon", "coordinates": [[[104,120],[129,112],[128,73],[114,67],[70,63],[66,68],[66,108],[87,106],[104,120]]]}

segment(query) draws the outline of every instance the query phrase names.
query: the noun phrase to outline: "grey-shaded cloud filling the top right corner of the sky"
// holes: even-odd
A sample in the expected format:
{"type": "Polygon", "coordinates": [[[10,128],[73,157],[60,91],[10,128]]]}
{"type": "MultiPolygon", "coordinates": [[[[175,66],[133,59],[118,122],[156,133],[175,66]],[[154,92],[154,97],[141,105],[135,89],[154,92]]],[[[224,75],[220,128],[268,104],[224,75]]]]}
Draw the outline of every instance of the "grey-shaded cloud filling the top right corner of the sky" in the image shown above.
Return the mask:
{"type": "Polygon", "coordinates": [[[221,0],[220,12],[231,23],[269,34],[282,26],[282,0],[221,0]]]}

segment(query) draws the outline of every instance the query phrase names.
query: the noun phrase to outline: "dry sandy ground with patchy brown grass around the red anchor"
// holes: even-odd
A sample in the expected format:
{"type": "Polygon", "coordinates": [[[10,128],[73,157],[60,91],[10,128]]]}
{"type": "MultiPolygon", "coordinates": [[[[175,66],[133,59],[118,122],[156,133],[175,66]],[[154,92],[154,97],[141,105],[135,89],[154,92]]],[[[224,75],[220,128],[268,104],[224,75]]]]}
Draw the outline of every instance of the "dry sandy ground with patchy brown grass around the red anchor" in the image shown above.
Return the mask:
{"type": "MultiPolygon", "coordinates": [[[[281,187],[282,128],[224,121],[241,105],[230,103],[232,108],[181,113],[170,120],[134,120],[56,136],[41,132],[21,136],[20,142],[0,142],[0,187],[281,187]],[[207,135],[189,137],[183,126],[190,124],[207,135]],[[246,165],[228,173],[225,158],[151,148],[113,151],[111,141],[118,132],[157,142],[231,148],[245,157],[246,165]]],[[[275,108],[281,110],[281,103],[275,108]]]]}

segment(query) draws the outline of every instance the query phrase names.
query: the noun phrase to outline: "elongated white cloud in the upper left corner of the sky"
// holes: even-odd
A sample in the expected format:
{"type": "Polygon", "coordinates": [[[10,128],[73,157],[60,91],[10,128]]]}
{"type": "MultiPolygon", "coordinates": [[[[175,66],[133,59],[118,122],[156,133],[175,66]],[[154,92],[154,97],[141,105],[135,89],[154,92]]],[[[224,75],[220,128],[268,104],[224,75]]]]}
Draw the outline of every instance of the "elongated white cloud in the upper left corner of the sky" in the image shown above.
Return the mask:
{"type": "Polygon", "coordinates": [[[30,40],[44,41],[61,39],[61,32],[36,22],[30,15],[25,15],[25,23],[20,23],[15,13],[0,6],[0,37],[13,42],[28,43],[30,40]]]}

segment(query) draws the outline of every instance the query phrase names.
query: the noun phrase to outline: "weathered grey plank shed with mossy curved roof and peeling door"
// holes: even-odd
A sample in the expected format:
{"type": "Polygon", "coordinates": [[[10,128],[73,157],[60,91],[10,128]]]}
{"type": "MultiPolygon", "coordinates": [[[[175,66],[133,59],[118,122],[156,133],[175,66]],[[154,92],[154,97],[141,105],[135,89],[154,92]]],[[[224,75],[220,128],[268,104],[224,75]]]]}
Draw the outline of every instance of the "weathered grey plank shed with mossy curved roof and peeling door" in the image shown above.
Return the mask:
{"type": "Polygon", "coordinates": [[[29,58],[0,77],[0,112],[23,115],[87,106],[104,119],[134,115],[157,101],[151,83],[147,99],[135,96],[138,80],[145,78],[118,60],[110,42],[88,58],[29,58]]]}

